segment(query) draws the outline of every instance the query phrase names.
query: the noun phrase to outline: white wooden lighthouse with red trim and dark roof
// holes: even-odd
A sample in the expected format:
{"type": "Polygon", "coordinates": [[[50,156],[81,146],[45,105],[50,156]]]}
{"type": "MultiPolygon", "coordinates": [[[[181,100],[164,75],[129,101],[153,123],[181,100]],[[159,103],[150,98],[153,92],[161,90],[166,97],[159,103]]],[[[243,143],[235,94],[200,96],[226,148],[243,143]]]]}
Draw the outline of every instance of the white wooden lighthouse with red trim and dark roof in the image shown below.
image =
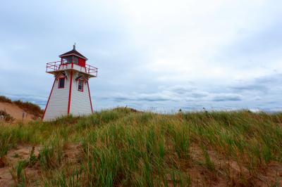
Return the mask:
{"type": "Polygon", "coordinates": [[[46,72],[54,75],[43,121],[55,120],[63,115],[89,115],[93,112],[89,79],[97,77],[97,67],[86,64],[88,60],[73,50],[59,56],[61,60],[47,63],[46,72]]]}

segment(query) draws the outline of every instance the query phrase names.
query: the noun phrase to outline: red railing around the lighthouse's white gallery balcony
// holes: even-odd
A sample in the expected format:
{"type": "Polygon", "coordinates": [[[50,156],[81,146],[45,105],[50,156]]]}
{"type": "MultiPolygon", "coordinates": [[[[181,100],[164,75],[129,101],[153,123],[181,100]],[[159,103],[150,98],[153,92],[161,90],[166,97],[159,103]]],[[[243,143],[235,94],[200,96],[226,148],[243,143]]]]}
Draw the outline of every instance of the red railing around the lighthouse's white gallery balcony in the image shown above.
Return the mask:
{"type": "MultiPolygon", "coordinates": [[[[58,70],[66,70],[65,68],[61,68],[62,66],[67,66],[67,65],[71,65],[71,69],[77,70],[77,68],[73,68],[73,65],[75,64],[71,64],[71,63],[61,63],[61,61],[56,61],[56,62],[52,62],[52,63],[47,63],[46,64],[46,72],[54,72],[54,71],[58,71],[58,70]],[[61,69],[60,69],[61,68],[61,69]]],[[[88,65],[86,64],[85,67],[82,67],[80,65],[78,65],[80,67],[80,72],[85,72],[87,74],[93,75],[94,77],[97,77],[97,73],[98,73],[98,68],[94,67],[92,65],[88,65]]]]}

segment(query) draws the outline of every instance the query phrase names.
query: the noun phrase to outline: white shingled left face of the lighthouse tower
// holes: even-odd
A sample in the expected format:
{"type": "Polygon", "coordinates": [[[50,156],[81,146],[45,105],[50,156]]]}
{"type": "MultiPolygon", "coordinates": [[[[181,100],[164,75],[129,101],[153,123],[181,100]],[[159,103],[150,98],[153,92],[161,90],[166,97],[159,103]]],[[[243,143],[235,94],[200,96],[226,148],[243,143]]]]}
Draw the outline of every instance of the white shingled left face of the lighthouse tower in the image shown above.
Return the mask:
{"type": "Polygon", "coordinates": [[[62,115],[68,114],[68,94],[70,90],[70,81],[71,77],[68,75],[68,79],[65,80],[65,87],[63,89],[59,89],[59,81],[55,81],[54,88],[44,115],[44,121],[55,120],[56,117],[61,117],[62,115]]]}

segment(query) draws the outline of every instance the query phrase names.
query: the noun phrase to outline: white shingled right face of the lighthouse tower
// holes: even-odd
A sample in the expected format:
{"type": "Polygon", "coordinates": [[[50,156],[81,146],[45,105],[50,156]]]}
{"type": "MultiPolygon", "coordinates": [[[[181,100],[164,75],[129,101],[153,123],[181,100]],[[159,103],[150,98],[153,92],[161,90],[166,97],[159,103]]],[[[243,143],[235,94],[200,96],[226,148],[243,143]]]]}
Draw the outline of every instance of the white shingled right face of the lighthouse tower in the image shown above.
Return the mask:
{"type": "Polygon", "coordinates": [[[78,77],[78,73],[74,73],[73,75],[70,113],[72,115],[89,115],[92,113],[92,110],[87,82],[83,84],[83,91],[78,91],[78,81],[75,81],[76,77],[78,77]]]}

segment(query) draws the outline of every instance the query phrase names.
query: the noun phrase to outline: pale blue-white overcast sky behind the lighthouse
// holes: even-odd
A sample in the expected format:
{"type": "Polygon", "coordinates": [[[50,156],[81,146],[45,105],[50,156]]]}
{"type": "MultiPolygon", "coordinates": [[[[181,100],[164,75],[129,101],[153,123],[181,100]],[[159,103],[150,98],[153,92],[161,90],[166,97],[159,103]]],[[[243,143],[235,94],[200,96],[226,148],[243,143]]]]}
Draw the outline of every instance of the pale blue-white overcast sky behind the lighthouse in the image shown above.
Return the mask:
{"type": "Polygon", "coordinates": [[[99,68],[95,110],[281,110],[282,1],[4,1],[0,94],[44,108],[46,63],[99,68]]]}

